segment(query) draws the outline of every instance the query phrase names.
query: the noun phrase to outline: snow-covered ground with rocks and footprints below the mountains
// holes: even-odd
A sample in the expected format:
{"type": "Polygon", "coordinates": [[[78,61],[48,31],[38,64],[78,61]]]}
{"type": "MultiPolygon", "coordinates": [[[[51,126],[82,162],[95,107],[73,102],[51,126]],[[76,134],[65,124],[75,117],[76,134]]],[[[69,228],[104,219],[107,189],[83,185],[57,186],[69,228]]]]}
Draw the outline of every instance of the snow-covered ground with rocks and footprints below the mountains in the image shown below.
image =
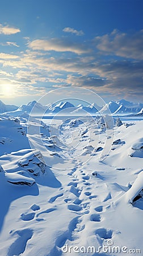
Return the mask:
{"type": "Polygon", "coordinates": [[[20,114],[0,115],[0,255],[142,255],[142,117],[20,114]]]}

